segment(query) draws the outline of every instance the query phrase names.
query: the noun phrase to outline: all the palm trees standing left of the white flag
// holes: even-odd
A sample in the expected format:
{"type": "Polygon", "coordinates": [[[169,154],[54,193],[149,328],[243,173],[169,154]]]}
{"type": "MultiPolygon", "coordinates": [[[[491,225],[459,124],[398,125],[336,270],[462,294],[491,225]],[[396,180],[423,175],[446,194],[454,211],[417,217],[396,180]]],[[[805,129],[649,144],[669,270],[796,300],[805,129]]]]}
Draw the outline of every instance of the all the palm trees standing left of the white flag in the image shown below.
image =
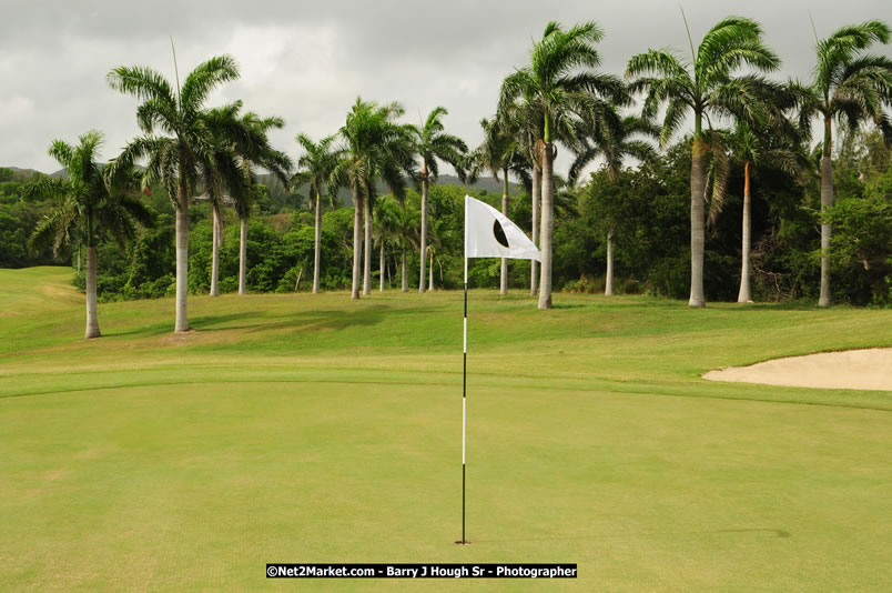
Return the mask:
{"type": "MultiPolygon", "coordinates": [[[[174,56],[175,63],[175,56],[174,56]]],[[[136,120],[143,132],[126,144],[119,157],[102,169],[97,148],[101,134],[91,131],[81,137],[79,147],[57,140],[50,154],[65,169],[61,180],[43,180],[30,187],[31,195],[60,197],[64,207],[53,212],[32,237],[38,249],[54,239],[57,254],[67,245],[87,245],[87,338],[100,335],[97,310],[97,223],[115,237],[133,237],[135,224],[151,224],[151,214],[139,201],[141,190],[161,185],[175,209],[175,325],[174,331],[189,331],[187,264],[189,208],[197,198],[207,200],[213,213],[213,249],[211,295],[219,295],[219,252],[222,241],[222,209],[232,205],[241,223],[239,293],[245,293],[247,219],[257,198],[256,169],[274,173],[285,185],[307,184],[315,199],[315,258],[313,292],[320,288],[320,239],[323,195],[332,201],[341,187],[353,194],[354,265],[352,296],[371,292],[372,211],[377,202],[377,182],[386,183],[399,200],[402,212],[389,213],[386,224],[392,233],[403,235],[403,290],[407,290],[406,249],[412,222],[405,209],[407,181],[422,188],[422,231],[419,249],[427,253],[428,187],[436,182],[440,160],[449,162],[464,177],[467,159],[465,143],[445,133],[446,109],[436,108],[418,127],[402,124],[398,103],[378,105],[357,99],[337,134],[314,143],[305,134],[297,135],[304,154],[297,172],[291,159],[272,148],[267,132],[282,128],[281,118],[261,118],[242,113],[242,102],[209,109],[207,96],[220,84],[239,77],[230,56],[215,57],[195,68],[180,84],[172,86],[158,71],[143,67],[120,67],[109,76],[109,84],[142,102],[136,120]],[[416,171],[416,160],[419,170],[416,171]],[[136,168],[145,162],[144,169],[136,168]],[[111,214],[105,214],[107,211],[111,214]],[[98,218],[99,217],[99,218],[98,218]],[[364,239],[364,240],[363,240],[364,239]],[[364,258],[363,258],[364,255],[364,258]]],[[[425,291],[426,258],[420,258],[419,292],[425,291]]],[[[432,277],[433,278],[433,277],[432,277]]],[[[433,283],[433,280],[432,280],[433,283]]]]}

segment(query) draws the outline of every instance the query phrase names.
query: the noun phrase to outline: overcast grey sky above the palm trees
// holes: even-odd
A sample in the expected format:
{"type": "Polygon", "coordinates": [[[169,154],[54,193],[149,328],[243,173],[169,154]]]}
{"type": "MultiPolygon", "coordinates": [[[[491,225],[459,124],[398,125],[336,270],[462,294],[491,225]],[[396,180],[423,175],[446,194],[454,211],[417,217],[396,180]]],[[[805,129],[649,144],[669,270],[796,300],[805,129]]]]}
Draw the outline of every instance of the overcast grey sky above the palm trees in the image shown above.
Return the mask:
{"type": "MultiPolygon", "coordinates": [[[[810,76],[809,12],[820,37],[866,19],[892,23],[889,0],[682,4],[695,43],[728,14],[758,20],[783,60],[778,78],[810,76]]],[[[296,133],[334,133],[357,96],[397,100],[410,122],[444,105],[447,131],[475,145],[501,80],[528,62],[549,20],[597,21],[606,31],[599,50],[608,72],[621,74],[630,56],[649,48],[690,52],[679,3],[657,0],[2,0],[0,167],[55,171],[50,142],[75,142],[90,129],[105,133],[103,160],[114,157],[139,133],[139,103],[111,90],[105,74],[139,64],[173,81],[170,36],[181,78],[211,56],[231,53],[241,79],[215,92],[210,104],[242,99],[245,110],[281,115],[286,125],[273,140],[292,158],[298,155],[296,133]]],[[[874,51],[892,56],[890,46],[874,51]]]]}

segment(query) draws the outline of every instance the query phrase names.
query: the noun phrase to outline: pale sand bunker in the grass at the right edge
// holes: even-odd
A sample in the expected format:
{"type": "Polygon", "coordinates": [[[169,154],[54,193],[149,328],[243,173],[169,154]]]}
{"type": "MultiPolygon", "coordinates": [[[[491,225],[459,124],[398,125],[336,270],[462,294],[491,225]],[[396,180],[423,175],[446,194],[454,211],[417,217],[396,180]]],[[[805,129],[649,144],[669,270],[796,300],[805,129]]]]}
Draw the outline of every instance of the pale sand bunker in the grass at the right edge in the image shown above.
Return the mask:
{"type": "Polygon", "coordinates": [[[710,371],[710,381],[892,391],[892,348],[825,352],[710,371]]]}

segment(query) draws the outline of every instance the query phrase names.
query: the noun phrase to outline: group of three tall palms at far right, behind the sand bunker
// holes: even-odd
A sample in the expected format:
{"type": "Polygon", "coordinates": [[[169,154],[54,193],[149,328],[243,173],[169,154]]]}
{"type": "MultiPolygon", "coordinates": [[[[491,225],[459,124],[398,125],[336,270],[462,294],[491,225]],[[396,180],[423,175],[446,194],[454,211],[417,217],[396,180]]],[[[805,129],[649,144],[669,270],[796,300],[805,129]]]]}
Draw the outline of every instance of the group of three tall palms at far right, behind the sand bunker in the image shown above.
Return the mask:
{"type": "MultiPolygon", "coordinates": [[[[690,40],[690,32],[688,33],[690,40]]],[[[817,36],[815,36],[817,38],[817,36]]],[[[695,119],[691,145],[691,306],[703,306],[705,202],[707,197],[707,153],[718,170],[711,208],[721,207],[727,160],[722,134],[710,124],[710,117],[730,117],[736,121],[737,139],[744,161],[743,245],[740,301],[749,300],[749,172],[759,154],[773,152],[776,162],[800,171],[803,143],[810,139],[810,122],[817,113],[823,118],[824,138],[821,161],[821,208],[833,205],[831,173],[833,120],[856,128],[872,120],[892,141],[892,125],[883,107],[892,102],[892,60],[865,56],[874,42],[888,43],[890,28],[881,21],[843,27],[831,37],[817,40],[818,63],[810,84],[781,84],[759,73],[733,76],[740,68],[770,72],[780,59],[764,44],[759,24],[743,18],[728,18],[713,27],[687,61],[670,51],[651,50],[633,57],[627,73],[639,77],[632,88],[647,91],[645,117],[653,117],[666,105],[660,143],[665,144],[691,113],[695,119]],[[708,129],[703,128],[703,120],[708,129]],[[797,125],[793,124],[795,121],[797,125]],[[757,147],[756,139],[762,140],[757,147]]],[[[828,249],[830,225],[821,230],[821,295],[819,305],[830,304],[828,249]]]]}

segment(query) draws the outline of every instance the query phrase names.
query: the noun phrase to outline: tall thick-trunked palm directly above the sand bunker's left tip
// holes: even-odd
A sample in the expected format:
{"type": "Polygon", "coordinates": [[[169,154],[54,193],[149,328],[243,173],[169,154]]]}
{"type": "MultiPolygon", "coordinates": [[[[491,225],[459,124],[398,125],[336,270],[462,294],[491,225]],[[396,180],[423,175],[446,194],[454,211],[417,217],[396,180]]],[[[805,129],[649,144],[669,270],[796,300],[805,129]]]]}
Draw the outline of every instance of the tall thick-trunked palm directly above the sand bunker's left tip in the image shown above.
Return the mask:
{"type": "MultiPolygon", "coordinates": [[[[682,13],[683,16],[683,13],[682,13]]],[[[688,28],[687,19],[685,27],[688,28]]],[[[746,117],[756,104],[764,79],[758,74],[738,78],[733,73],[750,67],[760,71],[776,70],[780,59],[762,42],[762,29],[753,20],[728,17],[703,37],[695,51],[688,30],[691,61],[670,50],[649,50],[633,56],[626,70],[627,77],[640,77],[632,90],[646,90],[642,117],[657,114],[667,102],[660,132],[660,145],[668,143],[672,133],[693,112],[693,143],[691,147],[691,290],[688,304],[706,306],[703,296],[703,250],[706,171],[705,155],[709,149],[703,131],[703,118],[710,114],[746,117]]]]}

